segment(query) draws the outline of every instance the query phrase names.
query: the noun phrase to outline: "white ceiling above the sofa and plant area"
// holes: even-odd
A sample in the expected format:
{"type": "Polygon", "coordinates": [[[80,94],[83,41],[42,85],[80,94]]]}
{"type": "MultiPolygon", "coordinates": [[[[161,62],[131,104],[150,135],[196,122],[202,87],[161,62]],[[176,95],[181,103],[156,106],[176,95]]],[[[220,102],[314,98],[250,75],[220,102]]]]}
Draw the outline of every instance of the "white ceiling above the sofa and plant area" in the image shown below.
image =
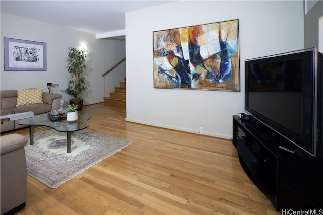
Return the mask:
{"type": "MultiPolygon", "coordinates": [[[[125,13],[174,1],[16,1],[1,0],[1,12],[93,34],[122,32],[125,13]]],[[[124,39],[123,35],[114,37],[124,39]]]]}

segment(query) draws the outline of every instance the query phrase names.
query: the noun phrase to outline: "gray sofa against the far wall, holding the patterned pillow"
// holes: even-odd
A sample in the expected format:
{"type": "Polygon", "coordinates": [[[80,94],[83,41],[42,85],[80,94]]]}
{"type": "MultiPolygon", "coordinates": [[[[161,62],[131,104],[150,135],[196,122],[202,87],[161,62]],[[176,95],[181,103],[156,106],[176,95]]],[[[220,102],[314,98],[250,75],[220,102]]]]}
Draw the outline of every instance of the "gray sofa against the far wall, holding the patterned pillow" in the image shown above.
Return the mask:
{"type": "MultiPolygon", "coordinates": [[[[0,91],[0,115],[23,113],[32,111],[35,115],[48,113],[60,108],[60,100],[62,95],[55,93],[42,93],[42,104],[30,104],[16,107],[18,93],[17,90],[1,90],[0,91]]],[[[15,130],[26,127],[18,125],[18,121],[2,121],[0,125],[0,132],[15,130]]]]}

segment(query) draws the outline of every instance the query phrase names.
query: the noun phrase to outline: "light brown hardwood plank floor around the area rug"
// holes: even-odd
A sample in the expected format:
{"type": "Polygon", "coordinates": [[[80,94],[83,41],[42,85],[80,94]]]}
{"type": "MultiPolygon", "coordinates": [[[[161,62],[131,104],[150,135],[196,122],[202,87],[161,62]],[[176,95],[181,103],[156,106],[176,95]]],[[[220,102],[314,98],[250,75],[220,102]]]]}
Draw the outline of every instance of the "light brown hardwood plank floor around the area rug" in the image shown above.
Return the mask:
{"type": "Polygon", "coordinates": [[[83,111],[92,116],[87,129],[132,144],[56,189],[28,175],[17,214],[281,214],[229,140],[126,122],[125,109],[103,103],[83,111]]]}

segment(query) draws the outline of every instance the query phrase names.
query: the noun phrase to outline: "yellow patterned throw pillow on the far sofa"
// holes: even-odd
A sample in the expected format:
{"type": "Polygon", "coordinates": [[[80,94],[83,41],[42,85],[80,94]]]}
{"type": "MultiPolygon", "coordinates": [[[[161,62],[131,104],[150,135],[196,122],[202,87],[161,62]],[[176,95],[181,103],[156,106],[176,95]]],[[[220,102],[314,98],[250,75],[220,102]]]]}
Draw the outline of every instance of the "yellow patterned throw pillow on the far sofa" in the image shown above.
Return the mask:
{"type": "Polygon", "coordinates": [[[18,89],[17,107],[22,105],[42,104],[42,88],[18,89]]]}

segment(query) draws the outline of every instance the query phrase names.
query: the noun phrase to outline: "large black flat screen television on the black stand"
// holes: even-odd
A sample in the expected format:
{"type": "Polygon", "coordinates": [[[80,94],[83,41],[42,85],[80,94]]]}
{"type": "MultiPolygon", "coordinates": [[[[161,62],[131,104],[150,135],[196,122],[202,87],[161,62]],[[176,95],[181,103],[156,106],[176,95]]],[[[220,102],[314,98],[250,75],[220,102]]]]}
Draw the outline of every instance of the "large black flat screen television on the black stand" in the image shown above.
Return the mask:
{"type": "Polygon", "coordinates": [[[322,58],[311,48],[245,60],[245,111],[313,157],[323,157],[322,58]]]}

